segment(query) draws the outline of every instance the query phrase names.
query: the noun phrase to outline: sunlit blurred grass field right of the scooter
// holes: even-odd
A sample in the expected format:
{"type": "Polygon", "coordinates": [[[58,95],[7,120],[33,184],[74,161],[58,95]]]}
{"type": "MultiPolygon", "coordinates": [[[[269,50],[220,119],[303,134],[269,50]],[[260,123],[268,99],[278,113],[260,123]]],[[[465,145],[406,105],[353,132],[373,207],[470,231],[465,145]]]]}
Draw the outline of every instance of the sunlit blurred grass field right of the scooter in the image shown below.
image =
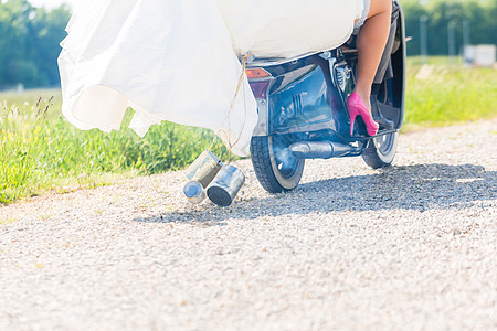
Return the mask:
{"type": "Polygon", "coordinates": [[[409,60],[405,130],[497,116],[497,71],[447,57],[409,60]]]}

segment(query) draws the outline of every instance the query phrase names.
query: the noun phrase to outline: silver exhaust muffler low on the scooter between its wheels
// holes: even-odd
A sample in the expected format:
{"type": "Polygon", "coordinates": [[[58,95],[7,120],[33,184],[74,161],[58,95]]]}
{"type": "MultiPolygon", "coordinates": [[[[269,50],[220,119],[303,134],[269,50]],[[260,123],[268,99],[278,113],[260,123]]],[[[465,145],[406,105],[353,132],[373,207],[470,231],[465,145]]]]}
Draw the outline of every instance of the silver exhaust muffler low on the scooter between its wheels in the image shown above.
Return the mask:
{"type": "Polygon", "coordinates": [[[299,141],[288,149],[296,159],[331,159],[361,153],[359,147],[332,141],[299,141]]]}

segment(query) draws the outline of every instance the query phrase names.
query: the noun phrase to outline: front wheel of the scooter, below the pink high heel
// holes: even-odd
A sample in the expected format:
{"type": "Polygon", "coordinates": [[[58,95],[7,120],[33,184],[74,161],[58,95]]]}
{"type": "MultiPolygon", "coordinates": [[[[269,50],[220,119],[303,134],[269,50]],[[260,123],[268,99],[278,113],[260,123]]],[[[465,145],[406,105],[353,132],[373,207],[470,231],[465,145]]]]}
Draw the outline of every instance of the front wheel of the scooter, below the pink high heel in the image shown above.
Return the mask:
{"type": "Polygon", "coordinates": [[[390,167],[395,158],[398,143],[399,132],[373,138],[368,141],[362,159],[372,169],[390,167]]]}

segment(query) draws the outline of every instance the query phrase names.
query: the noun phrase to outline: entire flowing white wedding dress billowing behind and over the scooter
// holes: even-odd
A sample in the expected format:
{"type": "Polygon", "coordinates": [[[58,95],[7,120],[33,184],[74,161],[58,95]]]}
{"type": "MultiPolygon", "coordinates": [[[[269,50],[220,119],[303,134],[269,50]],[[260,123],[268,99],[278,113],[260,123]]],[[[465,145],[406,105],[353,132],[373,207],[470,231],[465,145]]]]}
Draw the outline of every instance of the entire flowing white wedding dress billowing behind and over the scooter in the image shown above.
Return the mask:
{"type": "Polygon", "coordinates": [[[81,2],[59,57],[63,114],[80,129],[110,131],[133,107],[140,136],[169,120],[212,129],[246,156],[257,113],[246,77],[239,86],[239,56],[336,47],[361,12],[362,0],[81,2]]]}

